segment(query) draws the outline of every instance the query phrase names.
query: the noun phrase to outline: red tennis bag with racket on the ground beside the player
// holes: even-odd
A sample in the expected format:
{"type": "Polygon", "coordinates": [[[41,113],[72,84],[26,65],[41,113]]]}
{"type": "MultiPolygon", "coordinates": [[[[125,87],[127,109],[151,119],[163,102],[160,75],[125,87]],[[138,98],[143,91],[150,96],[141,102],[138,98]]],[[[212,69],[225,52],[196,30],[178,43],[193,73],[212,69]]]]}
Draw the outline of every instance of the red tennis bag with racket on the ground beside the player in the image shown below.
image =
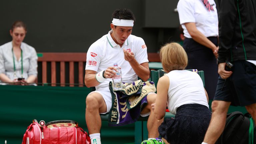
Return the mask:
{"type": "Polygon", "coordinates": [[[44,121],[33,120],[23,136],[22,144],[91,144],[87,132],[70,120],[44,121]]]}

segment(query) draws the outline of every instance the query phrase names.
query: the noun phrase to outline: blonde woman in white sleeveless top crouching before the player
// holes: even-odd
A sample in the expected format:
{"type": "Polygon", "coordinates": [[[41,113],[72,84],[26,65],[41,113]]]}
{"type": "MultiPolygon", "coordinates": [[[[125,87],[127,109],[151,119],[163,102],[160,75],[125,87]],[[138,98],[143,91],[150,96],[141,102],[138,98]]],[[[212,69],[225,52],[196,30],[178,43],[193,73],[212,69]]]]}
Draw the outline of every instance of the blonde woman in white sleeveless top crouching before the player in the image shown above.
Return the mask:
{"type": "Polygon", "coordinates": [[[158,131],[165,143],[200,144],[211,120],[208,95],[200,76],[184,70],[188,63],[185,50],[178,43],[160,49],[164,71],[157,83],[156,103],[152,109],[158,120],[165,116],[166,102],[173,119],[165,119],[158,131]]]}

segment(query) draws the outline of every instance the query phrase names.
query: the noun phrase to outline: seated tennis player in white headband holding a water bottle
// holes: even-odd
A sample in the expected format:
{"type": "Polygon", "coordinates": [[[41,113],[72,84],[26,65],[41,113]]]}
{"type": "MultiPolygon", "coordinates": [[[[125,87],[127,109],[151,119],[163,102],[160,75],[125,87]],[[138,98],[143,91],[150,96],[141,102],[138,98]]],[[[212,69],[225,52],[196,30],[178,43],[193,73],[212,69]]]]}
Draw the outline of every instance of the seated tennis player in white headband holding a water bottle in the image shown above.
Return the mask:
{"type": "MultiPolygon", "coordinates": [[[[116,75],[117,63],[122,69],[122,79],[125,83],[138,80],[138,76],[147,81],[149,66],[147,47],[142,38],[131,35],[135,17],[129,9],[118,9],[112,14],[111,30],[108,34],[94,42],[87,52],[85,68],[85,85],[95,87],[96,91],[86,97],[86,124],[90,133],[91,143],[101,144],[100,114],[108,113],[112,106],[109,82],[116,75]]],[[[141,111],[142,116],[148,116],[147,128],[149,138],[159,136],[158,127],[162,121],[154,117],[151,104],[155,103],[155,94],[147,95],[147,105],[141,111]]]]}

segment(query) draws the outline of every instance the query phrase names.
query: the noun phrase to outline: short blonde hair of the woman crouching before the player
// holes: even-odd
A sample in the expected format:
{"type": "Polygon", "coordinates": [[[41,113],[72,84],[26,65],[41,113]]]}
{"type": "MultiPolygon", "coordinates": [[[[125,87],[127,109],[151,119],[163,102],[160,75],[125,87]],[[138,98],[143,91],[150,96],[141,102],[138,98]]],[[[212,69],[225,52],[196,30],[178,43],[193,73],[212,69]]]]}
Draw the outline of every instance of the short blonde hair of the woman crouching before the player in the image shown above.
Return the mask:
{"type": "Polygon", "coordinates": [[[160,49],[160,60],[165,72],[184,70],[188,65],[188,56],[178,43],[167,43],[160,49]]]}

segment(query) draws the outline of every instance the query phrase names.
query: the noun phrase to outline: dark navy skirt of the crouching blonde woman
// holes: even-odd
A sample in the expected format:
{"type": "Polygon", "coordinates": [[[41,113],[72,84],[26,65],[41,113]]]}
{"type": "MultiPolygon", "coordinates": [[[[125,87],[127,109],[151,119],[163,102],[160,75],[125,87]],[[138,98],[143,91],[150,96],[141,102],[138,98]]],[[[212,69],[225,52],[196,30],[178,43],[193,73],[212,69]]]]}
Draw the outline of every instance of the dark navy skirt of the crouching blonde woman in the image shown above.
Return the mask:
{"type": "Polygon", "coordinates": [[[185,104],[177,109],[175,118],[165,119],[158,131],[171,144],[201,144],[210,120],[206,106],[185,104]]]}

